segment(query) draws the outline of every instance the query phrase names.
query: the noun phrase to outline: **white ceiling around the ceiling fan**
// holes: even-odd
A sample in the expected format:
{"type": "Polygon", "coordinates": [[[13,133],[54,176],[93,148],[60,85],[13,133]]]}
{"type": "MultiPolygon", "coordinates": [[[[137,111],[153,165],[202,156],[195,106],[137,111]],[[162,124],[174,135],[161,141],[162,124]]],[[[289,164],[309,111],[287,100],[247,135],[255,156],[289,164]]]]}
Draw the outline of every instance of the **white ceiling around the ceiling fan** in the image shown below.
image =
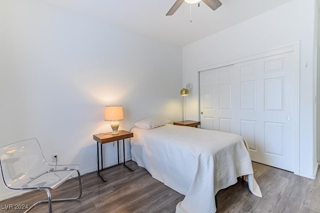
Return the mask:
{"type": "MultiPolygon", "coordinates": [[[[220,0],[215,11],[183,3],[165,16],[175,0],[42,0],[59,7],[102,19],[140,34],[185,45],[249,19],[290,0],[220,0]]],[[[262,24],[262,23],[261,23],[262,24]]]]}

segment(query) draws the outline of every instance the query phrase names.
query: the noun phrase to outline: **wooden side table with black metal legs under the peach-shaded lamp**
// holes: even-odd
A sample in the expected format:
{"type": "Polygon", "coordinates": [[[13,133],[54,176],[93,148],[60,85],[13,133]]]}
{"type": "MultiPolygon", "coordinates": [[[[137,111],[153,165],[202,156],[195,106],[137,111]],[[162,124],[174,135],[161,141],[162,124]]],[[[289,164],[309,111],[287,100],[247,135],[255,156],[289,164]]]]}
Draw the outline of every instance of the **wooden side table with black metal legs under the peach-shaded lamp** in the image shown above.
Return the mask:
{"type": "Polygon", "coordinates": [[[125,165],[125,154],[124,154],[124,139],[133,137],[133,133],[125,130],[119,130],[118,134],[111,134],[110,133],[99,133],[99,134],[93,134],[93,139],[96,141],[96,152],[97,152],[97,171],[96,173],[102,178],[104,183],[106,183],[106,179],[100,174],[100,171],[111,168],[117,165],[124,165],[127,167],[131,172],[133,170],[129,168],[127,165],[125,165]],[[123,141],[123,162],[119,162],[119,140],[123,141]],[[108,143],[108,142],[113,142],[117,141],[117,149],[118,149],[118,164],[103,168],[103,154],[102,154],[102,144],[103,143],[108,143]],[[100,153],[101,153],[101,169],[100,169],[100,164],[99,164],[99,143],[100,143],[100,153]]]}

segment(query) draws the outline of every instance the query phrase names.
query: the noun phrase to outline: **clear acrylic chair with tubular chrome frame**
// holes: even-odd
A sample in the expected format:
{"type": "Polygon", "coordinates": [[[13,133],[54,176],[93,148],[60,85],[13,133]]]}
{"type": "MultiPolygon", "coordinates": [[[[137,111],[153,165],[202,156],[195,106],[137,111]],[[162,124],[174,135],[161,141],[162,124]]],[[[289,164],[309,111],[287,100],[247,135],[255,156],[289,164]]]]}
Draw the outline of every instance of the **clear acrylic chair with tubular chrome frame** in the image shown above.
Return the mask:
{"type": "Polygon", "coordinates": [[[37,204],[47,202],[51,213],[53,201],[78,200],[81,197],[79,165],[47,163],[36,138],[21,140],[0,147],[0,166],[6,187],[16,190],[44,190],[46,192],[47,200],[34,203],[25,212],[37,204]],[[79,180],[79,196],[51,199],[49,189],[58,187],[76,172],[79,180]]]}

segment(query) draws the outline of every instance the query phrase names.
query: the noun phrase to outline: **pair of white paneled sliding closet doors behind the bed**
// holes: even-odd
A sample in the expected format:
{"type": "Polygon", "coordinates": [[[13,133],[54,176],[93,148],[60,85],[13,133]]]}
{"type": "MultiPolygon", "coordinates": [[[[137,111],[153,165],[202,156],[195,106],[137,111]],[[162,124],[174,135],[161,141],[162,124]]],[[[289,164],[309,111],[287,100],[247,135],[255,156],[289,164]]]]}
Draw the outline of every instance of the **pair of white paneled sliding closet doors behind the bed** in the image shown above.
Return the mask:
{"type": "Polygon", "coordinates": [[[201,127],[240,134],[253,161],[293,171],[293,56],[201,71],[201,127]]]}

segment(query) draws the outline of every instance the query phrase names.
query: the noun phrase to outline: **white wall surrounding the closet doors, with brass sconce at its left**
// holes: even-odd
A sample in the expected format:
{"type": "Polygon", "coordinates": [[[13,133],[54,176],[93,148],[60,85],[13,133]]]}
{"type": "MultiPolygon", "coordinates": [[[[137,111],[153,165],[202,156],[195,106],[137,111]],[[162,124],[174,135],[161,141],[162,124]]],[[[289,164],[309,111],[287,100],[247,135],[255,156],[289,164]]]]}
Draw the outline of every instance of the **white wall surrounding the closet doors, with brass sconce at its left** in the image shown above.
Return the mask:
{"type": "Polygon", "coordinates": [[[199,119],[198,68],[300,41],[299,174],[314,178],[313,113],[315,0],[292,0],[182,48],[183,84],[193,83],[186,98],[186,119],[199,119]],[[305,64],[307,63],[307,66],[305,64]]]}

